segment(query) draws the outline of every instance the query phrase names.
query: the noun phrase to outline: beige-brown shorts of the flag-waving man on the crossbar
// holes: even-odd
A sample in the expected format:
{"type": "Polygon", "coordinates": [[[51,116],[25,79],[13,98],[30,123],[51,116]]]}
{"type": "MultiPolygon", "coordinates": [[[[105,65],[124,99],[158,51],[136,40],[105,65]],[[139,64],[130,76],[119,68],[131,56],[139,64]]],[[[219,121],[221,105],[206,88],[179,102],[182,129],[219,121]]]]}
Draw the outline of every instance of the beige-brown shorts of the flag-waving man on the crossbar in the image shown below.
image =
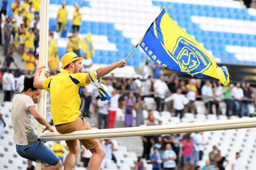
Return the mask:
{"type": "MultiPolygon", "coordinates": [[[[83,117],[77,117],[75,121],[55,125],[56,130],[61,133],[71,133],[77,130],[91,130],[91,126],[84,120],[83,117]]],[[[87,150],[100,146],[98,139],[82,139],[79,140],[87,150]]],[[[67,146],[72,147],[77,145],[78,140],[66,140],[67,146]]]]}

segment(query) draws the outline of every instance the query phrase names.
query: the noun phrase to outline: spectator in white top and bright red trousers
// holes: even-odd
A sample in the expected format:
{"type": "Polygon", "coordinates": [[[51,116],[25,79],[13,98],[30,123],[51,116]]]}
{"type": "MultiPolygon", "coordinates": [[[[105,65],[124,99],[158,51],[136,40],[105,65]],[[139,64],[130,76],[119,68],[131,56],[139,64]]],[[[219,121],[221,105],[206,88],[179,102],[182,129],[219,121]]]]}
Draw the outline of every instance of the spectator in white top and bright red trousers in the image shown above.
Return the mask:
{"type": "Polygon", "coordinates": [[[118,99],[119,94],[116,91],[116,88],[113,88],[111,100],[108,108],[108,125],[107,128],[115,128],[115,121],[116,121],[116,112],[118,109],[118,99]]]}

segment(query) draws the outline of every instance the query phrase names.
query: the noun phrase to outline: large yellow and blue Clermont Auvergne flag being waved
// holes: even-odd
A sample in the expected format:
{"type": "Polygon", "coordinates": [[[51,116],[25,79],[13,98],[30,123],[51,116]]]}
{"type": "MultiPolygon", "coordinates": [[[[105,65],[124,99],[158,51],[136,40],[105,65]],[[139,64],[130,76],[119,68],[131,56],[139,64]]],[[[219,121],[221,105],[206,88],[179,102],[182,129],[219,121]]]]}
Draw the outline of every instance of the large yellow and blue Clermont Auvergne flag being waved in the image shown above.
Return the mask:
{"type": "Polygon", "coordinates": [[[196,77],[213,77],[229,84],[226,68],[183,31],[163,8],[139,43],[152,62],[196,77]]]}

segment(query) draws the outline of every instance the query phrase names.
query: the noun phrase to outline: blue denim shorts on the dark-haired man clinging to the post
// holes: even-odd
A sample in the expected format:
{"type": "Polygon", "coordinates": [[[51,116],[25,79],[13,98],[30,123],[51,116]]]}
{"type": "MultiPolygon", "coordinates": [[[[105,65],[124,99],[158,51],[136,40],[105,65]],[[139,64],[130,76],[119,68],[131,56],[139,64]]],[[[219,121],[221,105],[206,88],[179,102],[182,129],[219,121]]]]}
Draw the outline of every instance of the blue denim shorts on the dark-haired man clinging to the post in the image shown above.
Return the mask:
{"type": "Polygon", "coordinates": [[[60,158],[38,139],[35,143],[29,145],[16,145],[17,153],[26,159],[36,161],[41,160],[49,165],[56,165],[60,158]]]}

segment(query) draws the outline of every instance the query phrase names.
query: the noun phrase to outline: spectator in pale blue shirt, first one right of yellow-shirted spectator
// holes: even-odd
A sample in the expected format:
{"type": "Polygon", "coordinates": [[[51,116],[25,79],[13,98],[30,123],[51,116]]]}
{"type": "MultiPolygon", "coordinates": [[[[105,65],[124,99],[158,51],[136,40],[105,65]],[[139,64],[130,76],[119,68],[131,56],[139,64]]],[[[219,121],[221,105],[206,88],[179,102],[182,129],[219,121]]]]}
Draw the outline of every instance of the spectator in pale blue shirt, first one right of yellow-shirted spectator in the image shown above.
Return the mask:
{"type": "Polygon", "coordinates": [[[202,95],[204,104],[206,107],[206,113],[213,114],[212,112],[212,105],[213,105],[213,90],[212,90],[212,84],[210,81],[206,81],[205,85],[202,87],[202,95]]]}

